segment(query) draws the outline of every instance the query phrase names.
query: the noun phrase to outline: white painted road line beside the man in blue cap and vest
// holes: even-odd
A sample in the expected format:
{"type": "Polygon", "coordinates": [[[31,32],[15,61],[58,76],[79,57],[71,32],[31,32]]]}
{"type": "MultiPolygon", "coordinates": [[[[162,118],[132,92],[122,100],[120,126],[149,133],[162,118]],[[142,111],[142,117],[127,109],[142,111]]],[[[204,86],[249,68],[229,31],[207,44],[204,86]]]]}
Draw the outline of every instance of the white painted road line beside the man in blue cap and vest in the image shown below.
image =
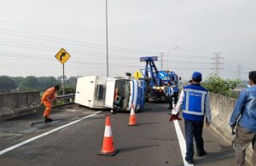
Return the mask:
{"type": "Polygon", "coordinates": [[[174,122],[175,130],[176,130],[176,134],[177,134],[177,140],[178,140],[178,143],[179,143],[179,147],[180,147],[180,150],[181,150],[182,155],[183,155],[184,166],[193,166],[193,164],[189,164],[185,160],[185,157],[186,157],[186,140],[184,140],[183,133],[180,129],[180,126],[179,126],[177,120],[174,120],[173,122],[174,122]]]}

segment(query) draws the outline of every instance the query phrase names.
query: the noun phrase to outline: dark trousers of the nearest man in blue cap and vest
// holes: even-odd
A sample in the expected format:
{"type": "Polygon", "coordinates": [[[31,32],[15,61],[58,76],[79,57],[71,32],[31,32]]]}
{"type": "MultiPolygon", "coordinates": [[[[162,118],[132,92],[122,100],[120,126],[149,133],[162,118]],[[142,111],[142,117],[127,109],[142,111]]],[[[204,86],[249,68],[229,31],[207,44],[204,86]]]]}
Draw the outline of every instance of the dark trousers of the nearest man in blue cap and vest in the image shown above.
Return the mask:
{"type": "Polygon", "coordinates": [[[195,137],[195,145],[198,153],[204,151],[204,140],[202,138],[204,121],[189,121],[185,120],[185,137],[186,137],[186,157],[192,160],[194,157],[193,138],[195,137]]]}

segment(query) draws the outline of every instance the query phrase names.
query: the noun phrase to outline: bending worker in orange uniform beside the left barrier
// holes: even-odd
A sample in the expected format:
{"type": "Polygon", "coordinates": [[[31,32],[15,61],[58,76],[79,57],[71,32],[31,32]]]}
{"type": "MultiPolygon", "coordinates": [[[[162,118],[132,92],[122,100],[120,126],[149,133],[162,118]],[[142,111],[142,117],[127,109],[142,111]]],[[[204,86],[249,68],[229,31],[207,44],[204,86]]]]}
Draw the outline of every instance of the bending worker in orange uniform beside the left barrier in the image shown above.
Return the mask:
{"type": "Polygon", "coordinates": [[[60,89],[60,85],[55,85],[55,87],[49,88],[45,90],[42,99],[41,104],[45,106],[44,110],[44,122],[49,123],[52,121],[51,118],[49,118],[49,113],[51,112],[51,102],[55,100],[55,92],[60,89]]]}

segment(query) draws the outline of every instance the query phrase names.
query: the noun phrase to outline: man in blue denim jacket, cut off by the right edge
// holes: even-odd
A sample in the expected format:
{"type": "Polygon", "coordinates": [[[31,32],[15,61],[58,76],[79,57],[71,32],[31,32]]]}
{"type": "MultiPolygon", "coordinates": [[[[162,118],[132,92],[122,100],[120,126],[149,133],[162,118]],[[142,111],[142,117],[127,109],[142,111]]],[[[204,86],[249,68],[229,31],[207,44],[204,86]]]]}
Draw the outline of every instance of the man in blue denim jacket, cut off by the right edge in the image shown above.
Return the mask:
{"type": "Polygon", "coordinates": [[[256,165],[256,71],[249,72],[250,87],[236,101],[230,117],[230,127],[236,129],[236,165],[245,165],[247,146],[253,145],[253,165],[256,165]]]}

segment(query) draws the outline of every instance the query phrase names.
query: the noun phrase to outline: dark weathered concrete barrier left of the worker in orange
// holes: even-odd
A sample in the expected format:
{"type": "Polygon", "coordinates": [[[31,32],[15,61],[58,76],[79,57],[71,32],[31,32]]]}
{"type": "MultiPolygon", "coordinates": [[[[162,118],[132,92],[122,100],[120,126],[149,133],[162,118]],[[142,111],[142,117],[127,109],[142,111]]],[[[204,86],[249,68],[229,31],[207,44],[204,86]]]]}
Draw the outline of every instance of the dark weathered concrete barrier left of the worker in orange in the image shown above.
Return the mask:
{"type": "Polygon", "coordinates": [[[40,107],[40,92],[0,94],[0,117],[35,112],[40,107]]]}

